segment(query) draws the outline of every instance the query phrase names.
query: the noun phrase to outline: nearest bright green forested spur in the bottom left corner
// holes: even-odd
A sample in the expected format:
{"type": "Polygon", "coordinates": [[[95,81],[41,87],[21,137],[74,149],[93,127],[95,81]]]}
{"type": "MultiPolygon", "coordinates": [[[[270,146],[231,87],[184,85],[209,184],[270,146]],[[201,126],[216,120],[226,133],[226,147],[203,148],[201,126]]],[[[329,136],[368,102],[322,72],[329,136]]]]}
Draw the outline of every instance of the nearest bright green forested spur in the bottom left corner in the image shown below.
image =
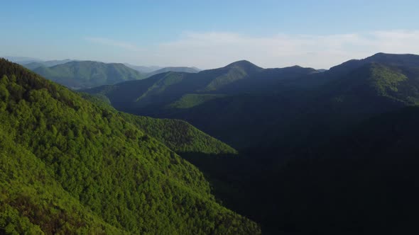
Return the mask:
{"type": "Polygon", "coordinates": [[[72,197],[45,163],[0,128],[0,233],[124,234],[72,197]]]}

